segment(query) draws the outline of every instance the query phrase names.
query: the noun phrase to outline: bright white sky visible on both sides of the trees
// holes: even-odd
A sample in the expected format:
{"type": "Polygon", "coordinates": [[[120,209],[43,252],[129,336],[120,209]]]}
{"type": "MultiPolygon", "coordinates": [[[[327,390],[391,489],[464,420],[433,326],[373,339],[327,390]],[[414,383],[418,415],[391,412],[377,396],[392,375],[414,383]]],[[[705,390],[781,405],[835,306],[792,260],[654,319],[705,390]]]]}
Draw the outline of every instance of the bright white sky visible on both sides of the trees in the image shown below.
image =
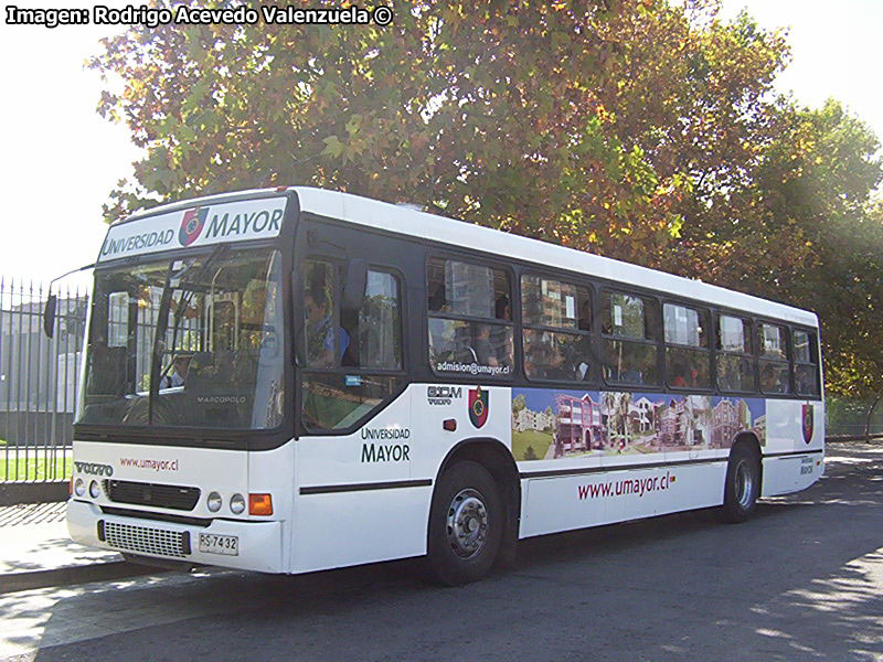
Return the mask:
{"type": "MultiPolygon", "coordinates": [[[[15,4],[92,7],[63,0],[15,4]]],[[[104,84],[83,66],[114,29],[8,25],[6,7],[0,23],[0,274],[47,281],[95,259],[107,228],[102,204],[116,181],[131,174],[138,150],[124,126],[95,113],[104,84]]],[[[789,28],[792,61],[777,82],[780,92],[794,90],[811,107],[833,96],[883,138],[883,0],[836,6],[724,0],[722,17],[733,18],[742,8],[763,28],[789,28]]],[[[86,280],[86,275],[68,279],[86,280]]]]}

